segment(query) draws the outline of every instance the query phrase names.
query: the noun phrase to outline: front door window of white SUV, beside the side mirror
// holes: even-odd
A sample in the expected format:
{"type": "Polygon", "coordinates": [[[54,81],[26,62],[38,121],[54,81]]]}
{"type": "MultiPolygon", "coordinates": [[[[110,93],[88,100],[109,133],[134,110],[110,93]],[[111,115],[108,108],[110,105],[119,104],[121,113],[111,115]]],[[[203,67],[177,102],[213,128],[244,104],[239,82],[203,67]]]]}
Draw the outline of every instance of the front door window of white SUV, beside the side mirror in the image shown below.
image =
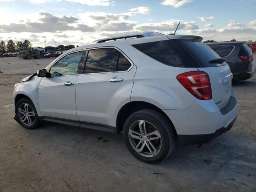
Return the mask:
{"type": "Polygon", "coordinates": [[[68,54],[56,62],[50,69],[51,77],[77,74],[83,51],[68,54]]]}

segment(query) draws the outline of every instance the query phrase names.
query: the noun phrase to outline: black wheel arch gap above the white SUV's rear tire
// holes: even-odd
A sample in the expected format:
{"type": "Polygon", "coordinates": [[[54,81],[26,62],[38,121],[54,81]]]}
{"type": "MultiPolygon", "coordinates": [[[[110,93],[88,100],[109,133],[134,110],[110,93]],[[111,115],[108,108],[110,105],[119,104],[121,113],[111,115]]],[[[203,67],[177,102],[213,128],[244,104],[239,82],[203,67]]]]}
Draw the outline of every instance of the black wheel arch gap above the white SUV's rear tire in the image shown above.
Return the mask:
{"type": "MultiPolygon", "coordinates": [[[[129,103],[126,103],[122,108],[119,110],[117,118],[116,118],[116,131],[119,133],[123,130],[124,122],[126,119],[133,114],[136,111],[142,110],[142,109],[152,109],[160,112],[162,115],[164,115],[169,123],[174,127],[172,120],[164,113],[163,110],[155,106],[154,104],[144,102],[144,101],[132,101],[129,103]]],[[[176,129],[174,127],[175,134],[177,136],[176,129]]]]}

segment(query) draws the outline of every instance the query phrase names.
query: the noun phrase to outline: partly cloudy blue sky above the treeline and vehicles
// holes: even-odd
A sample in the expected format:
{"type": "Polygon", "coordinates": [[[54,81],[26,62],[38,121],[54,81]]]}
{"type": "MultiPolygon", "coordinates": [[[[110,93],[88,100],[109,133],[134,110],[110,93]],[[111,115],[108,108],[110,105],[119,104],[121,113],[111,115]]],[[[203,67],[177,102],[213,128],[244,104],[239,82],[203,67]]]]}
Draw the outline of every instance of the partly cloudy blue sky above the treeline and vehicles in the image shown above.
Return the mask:
{"type": "Polygon", "coordinates": [[[138,32],[256,40],[256,0],[0,0],[0,40],[74,44],[138,32]]]}

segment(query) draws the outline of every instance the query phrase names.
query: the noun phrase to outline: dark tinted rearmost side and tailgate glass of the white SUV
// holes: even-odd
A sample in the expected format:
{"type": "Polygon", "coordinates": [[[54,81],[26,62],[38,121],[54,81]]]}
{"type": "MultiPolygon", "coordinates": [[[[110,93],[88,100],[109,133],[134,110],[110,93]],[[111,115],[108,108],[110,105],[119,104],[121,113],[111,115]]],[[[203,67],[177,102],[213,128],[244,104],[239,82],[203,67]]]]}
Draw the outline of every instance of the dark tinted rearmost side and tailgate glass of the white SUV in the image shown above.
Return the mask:
{"type": "Polygon", "coordinates": [[[209,61],[220,58],[209,46],[197,40],[164,40],[132,45],[151,58],[174,67],[216,67],[209,61]]]}

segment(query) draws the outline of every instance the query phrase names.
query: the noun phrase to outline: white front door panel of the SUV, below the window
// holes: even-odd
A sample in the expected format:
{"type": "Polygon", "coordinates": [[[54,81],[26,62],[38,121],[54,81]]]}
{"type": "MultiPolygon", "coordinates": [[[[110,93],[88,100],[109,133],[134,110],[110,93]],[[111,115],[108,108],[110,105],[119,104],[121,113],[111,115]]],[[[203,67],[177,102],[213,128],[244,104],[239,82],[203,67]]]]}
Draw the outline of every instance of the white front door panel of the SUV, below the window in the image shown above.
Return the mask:
{"type": "Polygon", "coordinates": [[[76,116],[76,80],[78,75],[42,78],[39,107],[42,116],[78,120],[76,116]],[[64,83],[74,83],[65,86],[64,83]]]}

